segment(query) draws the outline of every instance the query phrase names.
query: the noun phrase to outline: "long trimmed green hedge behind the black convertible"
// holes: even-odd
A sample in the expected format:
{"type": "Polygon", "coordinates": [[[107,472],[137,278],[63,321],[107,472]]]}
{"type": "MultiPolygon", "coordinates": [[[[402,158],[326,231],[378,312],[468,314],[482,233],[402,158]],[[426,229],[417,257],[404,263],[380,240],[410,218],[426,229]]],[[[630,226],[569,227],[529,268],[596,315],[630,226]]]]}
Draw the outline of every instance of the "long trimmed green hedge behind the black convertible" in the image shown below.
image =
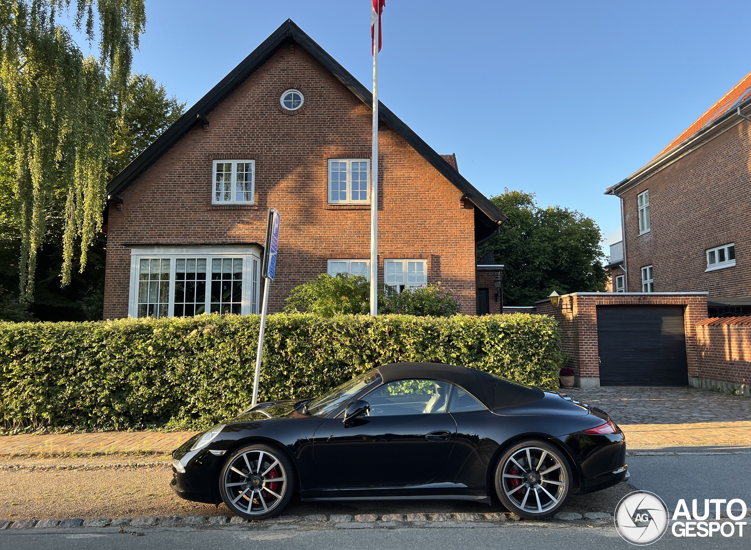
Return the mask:
{"type": "MultiPolygon", "coordinates": [[[[259,316],[0,322],[2,430],[198,429],[249,406],[259,316]]],[[[548,316],[267,319],[259,400],[321,394],[379,364],[466,365],[557,387],[548,316]]]]}

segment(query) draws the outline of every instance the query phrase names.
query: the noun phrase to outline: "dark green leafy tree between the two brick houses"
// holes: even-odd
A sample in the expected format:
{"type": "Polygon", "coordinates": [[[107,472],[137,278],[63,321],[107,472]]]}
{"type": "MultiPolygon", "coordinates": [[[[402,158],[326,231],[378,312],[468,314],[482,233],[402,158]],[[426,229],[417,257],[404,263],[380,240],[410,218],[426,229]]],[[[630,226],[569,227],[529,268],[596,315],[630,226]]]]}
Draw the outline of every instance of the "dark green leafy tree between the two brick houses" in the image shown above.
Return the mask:
{"type": "Polygon", "coordinates": [[[535,195],[509,191],[490,199],[508,219],[498,237],[480,246],[478,258],[493,249],[505,265],[505,305],[531,306],[555,290],[604,292],[602,234],[593,219],[576,210],[539,208],[535,195]]]}

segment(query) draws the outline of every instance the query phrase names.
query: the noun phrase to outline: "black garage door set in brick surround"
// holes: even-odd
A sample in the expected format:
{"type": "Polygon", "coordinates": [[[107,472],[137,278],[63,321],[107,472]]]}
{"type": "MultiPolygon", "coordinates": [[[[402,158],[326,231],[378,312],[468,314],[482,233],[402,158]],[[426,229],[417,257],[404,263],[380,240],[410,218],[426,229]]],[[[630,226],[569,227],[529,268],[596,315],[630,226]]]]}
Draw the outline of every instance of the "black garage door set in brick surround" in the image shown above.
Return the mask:
{"type": "Polygon", "coordinates": [[[683,306],[597,306],[600,385],[688,385],[683,306]]]}

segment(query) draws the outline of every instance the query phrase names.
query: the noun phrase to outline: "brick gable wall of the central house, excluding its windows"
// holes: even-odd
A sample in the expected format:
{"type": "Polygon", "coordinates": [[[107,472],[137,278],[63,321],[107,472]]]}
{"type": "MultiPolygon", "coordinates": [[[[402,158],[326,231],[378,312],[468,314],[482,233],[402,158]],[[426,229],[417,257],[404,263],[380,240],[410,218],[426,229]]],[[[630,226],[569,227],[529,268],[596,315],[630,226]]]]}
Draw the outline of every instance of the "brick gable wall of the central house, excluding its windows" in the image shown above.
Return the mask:
{"type": "MultiPolygon", "coordinates": [[[[267,207],[282,214],[270,311],[327,270],[369,258],[369,206],[327,205],[327,159],[368,159],[371,110],[301,47],[285,46],[208,113],[110,207],[104,318],[128,315],[134,243],[263,243],[267,207]],[[291,116],[285,89],[305,95],[291,116]],[[212,206],[212,160],[255,159],[255,206],[212,206]]],[[[384,258],[426,258],[428,281],[475,313],[474,213],[461,192],[391,128],[379,128],[379,272],[384,258]]]]}

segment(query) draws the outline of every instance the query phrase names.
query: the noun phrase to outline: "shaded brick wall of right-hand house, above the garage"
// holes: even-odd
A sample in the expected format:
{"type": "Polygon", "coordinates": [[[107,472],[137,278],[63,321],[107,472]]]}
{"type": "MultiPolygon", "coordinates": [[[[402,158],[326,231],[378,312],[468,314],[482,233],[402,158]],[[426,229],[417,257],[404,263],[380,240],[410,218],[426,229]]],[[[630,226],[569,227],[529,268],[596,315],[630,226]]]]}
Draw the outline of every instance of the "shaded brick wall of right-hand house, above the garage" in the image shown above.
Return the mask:
{"type": "Polygon", "coordinates": [[[653,265],[656,292],[751,296],[751,124],[725,131],[621,195],[628,291],[653,265]],[[639,235],[637,195],[650,192],[650,232],[639,235]],[[735,243],[736,265],[704,273],[706,250],[735,243]]]}

